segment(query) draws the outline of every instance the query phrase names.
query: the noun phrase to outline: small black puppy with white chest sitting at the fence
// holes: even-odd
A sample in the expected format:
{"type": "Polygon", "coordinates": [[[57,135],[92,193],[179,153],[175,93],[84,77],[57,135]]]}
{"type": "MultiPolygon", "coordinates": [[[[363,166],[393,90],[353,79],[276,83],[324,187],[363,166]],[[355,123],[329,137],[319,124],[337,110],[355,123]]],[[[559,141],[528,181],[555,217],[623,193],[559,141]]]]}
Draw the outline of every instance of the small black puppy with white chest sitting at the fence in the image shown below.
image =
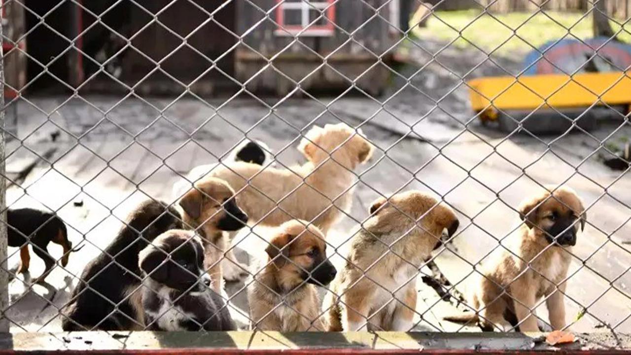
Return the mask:
{"type": "Polygon", "coordinates": [[[204,248],[192,231],[160,234],[139,254],[147,330],[236,330],[221,296],[209,286],[204,248]]]}

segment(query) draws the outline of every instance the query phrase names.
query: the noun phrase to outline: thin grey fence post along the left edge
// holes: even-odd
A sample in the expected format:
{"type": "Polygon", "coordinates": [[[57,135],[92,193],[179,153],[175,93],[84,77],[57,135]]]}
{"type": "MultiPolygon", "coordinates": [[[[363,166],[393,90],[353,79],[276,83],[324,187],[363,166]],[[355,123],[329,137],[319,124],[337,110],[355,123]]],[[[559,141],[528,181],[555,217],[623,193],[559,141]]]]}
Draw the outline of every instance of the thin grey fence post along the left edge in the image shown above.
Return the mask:
{"type": "MultiPolygon", "coordinates": [[[[0,11],[1,14],[1,11],[0,11]]],[[[0,15],[0,44],[4,42],[2,34],[2,16],[0,15]]],[[[0,332],[9,332],[9,320],[4,310],[9,306],[9,274],[6,240],[6,211],[4,197],[6,179],[4,178],[4,51],[0,45],[0,332]]]]}

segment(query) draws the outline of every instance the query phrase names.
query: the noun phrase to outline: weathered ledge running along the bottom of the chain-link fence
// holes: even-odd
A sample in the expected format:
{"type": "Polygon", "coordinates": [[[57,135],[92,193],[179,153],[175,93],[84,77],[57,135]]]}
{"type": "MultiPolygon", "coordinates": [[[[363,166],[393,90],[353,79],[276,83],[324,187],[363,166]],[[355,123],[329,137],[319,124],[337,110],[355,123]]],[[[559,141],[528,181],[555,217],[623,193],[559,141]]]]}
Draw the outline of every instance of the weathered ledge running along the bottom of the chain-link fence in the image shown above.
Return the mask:
{"type": "Polygon", "coordinates": [[[577,341],[548,346],[542,334],[487,333],[280,333],[280,332],[73,332],[0,334],[0,354],[37,352],[160,354],[465,354],[536,352],[612,354],[628,352],[631,336],[581,334],[577,341]]]}

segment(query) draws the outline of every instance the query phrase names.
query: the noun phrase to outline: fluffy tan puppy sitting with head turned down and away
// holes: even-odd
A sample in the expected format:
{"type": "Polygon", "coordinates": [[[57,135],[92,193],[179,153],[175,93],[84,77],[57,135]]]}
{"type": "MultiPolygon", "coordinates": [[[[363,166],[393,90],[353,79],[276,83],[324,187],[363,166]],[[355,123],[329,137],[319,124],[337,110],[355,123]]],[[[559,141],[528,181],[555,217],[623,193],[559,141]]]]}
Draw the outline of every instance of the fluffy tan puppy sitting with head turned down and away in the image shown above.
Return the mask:
{"type": "Polygon", "coordinates": [[[324,299],[329,331],[409,331],[418,269],[459,225],[451,208],[420,191],[378,198],[370,214],[324,299]]]}

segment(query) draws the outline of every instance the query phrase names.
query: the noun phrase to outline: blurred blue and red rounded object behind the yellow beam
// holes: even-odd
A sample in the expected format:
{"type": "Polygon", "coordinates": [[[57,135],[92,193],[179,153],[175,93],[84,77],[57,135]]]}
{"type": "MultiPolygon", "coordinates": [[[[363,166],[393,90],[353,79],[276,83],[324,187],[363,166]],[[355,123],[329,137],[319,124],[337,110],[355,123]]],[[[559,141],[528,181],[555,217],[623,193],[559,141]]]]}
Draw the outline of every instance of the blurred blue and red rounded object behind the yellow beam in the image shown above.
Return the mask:
{"type": "Polygon", "coordinates": [[[608,37],[552,40],[530,52],[524,68],[525,75],[625,71],[631,69],[631,45],[608,37]]]}

